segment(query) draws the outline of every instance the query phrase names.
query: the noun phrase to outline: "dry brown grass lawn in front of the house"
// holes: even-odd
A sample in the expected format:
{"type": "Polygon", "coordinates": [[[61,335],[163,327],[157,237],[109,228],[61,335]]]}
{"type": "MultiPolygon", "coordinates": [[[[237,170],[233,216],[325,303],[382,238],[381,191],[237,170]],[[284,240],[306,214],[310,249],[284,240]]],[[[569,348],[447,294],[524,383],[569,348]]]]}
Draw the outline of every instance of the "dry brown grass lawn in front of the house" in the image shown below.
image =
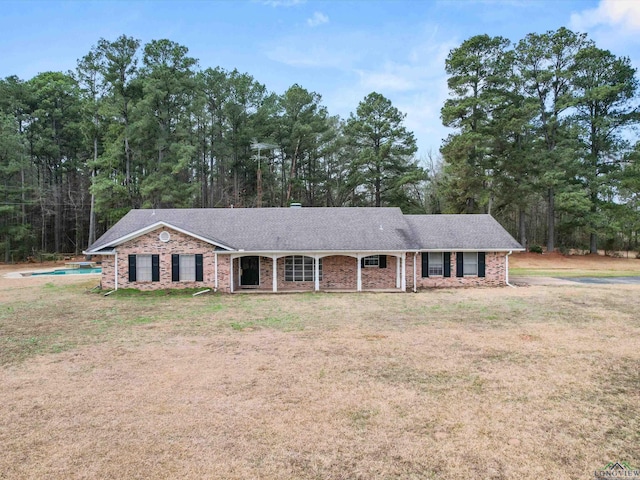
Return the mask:
{"type": "Polygon", "coordinates": [[[0,280],[0,478],[640,464],[639,287],[192,298],[76,282],[0,280]]]}

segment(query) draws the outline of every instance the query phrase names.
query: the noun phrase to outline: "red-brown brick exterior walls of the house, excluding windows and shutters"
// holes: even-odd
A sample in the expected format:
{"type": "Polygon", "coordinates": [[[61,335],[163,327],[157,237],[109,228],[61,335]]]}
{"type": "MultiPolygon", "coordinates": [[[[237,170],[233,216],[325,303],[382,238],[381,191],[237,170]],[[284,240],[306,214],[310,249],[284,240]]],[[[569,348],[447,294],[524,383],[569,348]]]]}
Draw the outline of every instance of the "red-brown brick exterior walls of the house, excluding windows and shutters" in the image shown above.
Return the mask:
{"type": "MultiPolygon", "coordinates": [[[[156,290],[165,288],[211,288],[215,287],[215,254],[213,246],[182,234],[169,228],[159,228],[153,232],[141,235],[117,247],[118,256],[118,288],[137,288],[139,290],[156,290]],[[162,231],[169,232],[168,242],[161,242],[159,235],[162,231]],[[202,282],[172,282],[171,255],[202,254],[203,281],[202,282]],[[159,282],[129,282],[130,254],[158,254],[160,256],[159,282]]],[[[422,277],[422,254],[406,255],[406,289],[413,289],[413,261],[416,260],[417,288],[449,288],[471,286],[504,286],[506,283],[506,262],[504,252],[486,252],[485,277],[467,276],[456,277],[456,254],[451,252],[451,277],[422,277]]],[[[314,282],[289,282],[284,279],[284,257],[278,258],[278,291],[303,290],[313,291],[314,282]]],[[[362,289],[395,289],[396,268],[401,260],[387,255],[387,268],[363,267],[362,289]]],[[[240,259],[233,261],[234,291],[249,291],[240,287],[239,265],[240,259]]],[[[273,287],[273,260],[271,257],[259,258],[260,290],[271,290],[273,287]]],[[[218,291],[230,292],[230,256],[218,253],[218,291]]],[[[103,289],[115,288],[115,256],[102,256],[103,289]]],[[[357,288],[357,259],[346,255],[331,255],[322,259],[322,280],[320,290],[356,290],[357,288]]]]}

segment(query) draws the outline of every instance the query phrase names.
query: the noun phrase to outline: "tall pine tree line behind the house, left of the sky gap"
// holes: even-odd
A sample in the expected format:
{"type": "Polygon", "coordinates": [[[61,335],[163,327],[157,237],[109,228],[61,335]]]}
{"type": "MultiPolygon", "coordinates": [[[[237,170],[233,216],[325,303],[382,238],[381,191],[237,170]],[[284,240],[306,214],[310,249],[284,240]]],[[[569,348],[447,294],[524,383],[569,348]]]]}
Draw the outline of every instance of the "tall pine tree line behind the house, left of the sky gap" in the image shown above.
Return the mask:
{"type": "Polygon", "coordinates": [[[100,39],[73,72],[0,79],[4,260],[78,253],[131,208],[421,211],[403,122],[375,92],[343,120],[316,92],[203,69],[170,40],[100,39]]]}

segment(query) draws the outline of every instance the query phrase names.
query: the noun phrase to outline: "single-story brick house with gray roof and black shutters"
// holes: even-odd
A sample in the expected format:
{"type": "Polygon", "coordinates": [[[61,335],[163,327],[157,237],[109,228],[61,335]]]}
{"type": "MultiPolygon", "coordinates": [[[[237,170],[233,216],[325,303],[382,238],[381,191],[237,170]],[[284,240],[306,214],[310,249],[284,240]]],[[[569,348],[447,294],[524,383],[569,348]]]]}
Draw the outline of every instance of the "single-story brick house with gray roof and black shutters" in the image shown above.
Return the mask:
{"type": "Polygon", "coordinates": [[[506,285],[521,250],[490,215],[311,207],[131,210],[84,253],[103,289],[405,292],[506,285]]]}

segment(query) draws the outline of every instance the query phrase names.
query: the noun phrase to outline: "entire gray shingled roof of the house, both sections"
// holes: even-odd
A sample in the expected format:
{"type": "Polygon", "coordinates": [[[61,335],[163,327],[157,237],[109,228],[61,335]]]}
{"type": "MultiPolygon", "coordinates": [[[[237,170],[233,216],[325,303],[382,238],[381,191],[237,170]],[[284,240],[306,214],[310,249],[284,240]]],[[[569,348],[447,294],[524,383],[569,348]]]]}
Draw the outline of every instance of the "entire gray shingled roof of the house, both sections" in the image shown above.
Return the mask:
{"type": "Polygon", "coordinates": [[[87,252],[108,249],[158,222],[245,251],[519,249],[489,215],[403,215],[399,208],[131,210],[87,252]]]}

